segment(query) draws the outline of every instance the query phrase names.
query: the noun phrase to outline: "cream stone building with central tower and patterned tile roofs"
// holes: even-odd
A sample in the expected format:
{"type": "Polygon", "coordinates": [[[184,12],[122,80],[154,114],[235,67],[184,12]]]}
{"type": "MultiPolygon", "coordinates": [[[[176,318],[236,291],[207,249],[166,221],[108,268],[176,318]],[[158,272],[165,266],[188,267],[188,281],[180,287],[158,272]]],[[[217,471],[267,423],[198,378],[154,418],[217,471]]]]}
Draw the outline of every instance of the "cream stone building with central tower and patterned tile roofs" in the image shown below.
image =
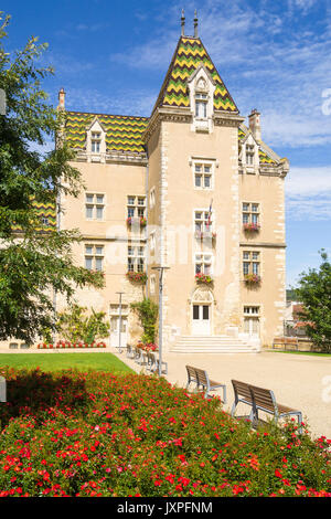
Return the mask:
{"type": "MultiPolygon", "coordinates": [[[[284,179],[289,170],[261,139],[260,114],[239,115],[197,35],[182,34],[150,117],[71,112],[65,136],[86,186],[62,197],[61,229],[78,227],[75,261],[105,272],[103,290],[77,293],[104,310],[118,343],[140,329],[130,303],[158,301],[163,348],[211,345],[257,351],[284,332],[284,179]]],[[[57,301],[58,308],[63,301],[57,301]]]]}

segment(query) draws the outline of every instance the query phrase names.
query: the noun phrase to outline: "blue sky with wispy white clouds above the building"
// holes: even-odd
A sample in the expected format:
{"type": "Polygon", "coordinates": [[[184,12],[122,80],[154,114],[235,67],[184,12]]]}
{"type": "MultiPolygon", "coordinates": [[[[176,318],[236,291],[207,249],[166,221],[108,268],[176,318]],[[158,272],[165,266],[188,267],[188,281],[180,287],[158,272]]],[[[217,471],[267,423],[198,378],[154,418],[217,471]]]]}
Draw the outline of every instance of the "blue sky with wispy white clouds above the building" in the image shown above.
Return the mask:
{"type": "Polygon", "coordinates": [[[241,114],[261,113],[263,139],[290,161],[287,284],[331,255],[331,0],[2,0],[9,47],[50,44],[44,88],[74,110],[149,116],[180,35],[199,31],[241,114]],[[197,2],[196,2],[197,3],[197,2]]]}

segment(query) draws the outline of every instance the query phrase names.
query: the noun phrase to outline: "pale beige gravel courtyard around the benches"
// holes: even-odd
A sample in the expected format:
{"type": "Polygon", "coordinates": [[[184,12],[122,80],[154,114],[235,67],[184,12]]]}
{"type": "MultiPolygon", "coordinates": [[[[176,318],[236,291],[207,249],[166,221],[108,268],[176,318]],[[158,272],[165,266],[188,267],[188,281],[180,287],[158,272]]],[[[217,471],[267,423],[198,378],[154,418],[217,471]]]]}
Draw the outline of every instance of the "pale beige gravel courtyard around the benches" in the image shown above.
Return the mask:
{"type": "MultiPolygon", "coordinates": [[[[125,353],[119,354],[115,349],[111,352],[137,372],[141,371],[125,353]]],[[[234,401],[231,379],[271,389],[279,403],[302,411],[313,436],[331,438],[331,357],[265,351],[257,354],[217,356],[166,353],[163,360],[168,362],[167,379],[173,384],[186,384],[185,364],[206,369],[212,380],[225,382],[225,410],[231,410],[234,401]]]]}

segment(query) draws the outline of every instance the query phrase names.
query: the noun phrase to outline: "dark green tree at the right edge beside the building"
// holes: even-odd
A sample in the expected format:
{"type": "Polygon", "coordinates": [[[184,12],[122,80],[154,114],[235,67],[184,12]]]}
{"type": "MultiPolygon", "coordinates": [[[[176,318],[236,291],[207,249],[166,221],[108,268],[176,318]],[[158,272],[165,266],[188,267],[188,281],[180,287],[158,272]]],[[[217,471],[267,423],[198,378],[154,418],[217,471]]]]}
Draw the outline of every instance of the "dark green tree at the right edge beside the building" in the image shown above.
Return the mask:
{"type": "Polygon", "coordinates": [[[331,264],[324,250],[320,251],[320,268],[309,268],[300,275],[297,299],[303,304],[299,317],[307,321],[307,335],[313,345],[331,351],[331,264]]]}

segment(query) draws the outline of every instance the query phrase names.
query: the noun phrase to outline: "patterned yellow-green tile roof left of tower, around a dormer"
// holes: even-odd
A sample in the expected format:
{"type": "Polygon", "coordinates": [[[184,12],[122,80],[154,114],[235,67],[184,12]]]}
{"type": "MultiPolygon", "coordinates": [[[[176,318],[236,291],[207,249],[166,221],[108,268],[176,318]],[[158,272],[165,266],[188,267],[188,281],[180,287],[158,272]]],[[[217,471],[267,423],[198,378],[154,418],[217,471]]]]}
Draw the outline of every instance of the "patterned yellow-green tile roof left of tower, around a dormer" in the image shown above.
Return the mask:
{"type": "Polygon", "coordinates": [[[131,153],[145,151],[141,136],[149,120],[147,117],[66,112],[65,134],[72,148],[85,148],[86,128],[95,118],[105,128],[107,150],[131,153]]]}

